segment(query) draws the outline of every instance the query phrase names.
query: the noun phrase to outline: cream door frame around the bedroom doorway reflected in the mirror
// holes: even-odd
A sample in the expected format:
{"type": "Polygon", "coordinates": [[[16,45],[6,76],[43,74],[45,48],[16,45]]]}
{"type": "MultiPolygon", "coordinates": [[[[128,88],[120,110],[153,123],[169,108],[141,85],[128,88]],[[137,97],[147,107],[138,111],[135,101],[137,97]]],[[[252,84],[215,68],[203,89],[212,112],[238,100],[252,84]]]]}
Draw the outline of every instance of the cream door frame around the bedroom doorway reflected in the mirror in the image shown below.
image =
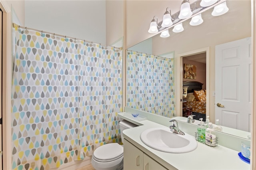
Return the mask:
{"type": "MultiPolygon", "coordinates": [[[[178,54],[178,61],[180,62],[180,85],[178,88],[180,88],[180,94],[177,95],[179,96],[179,101],[178,103],[180,103],[180,106],[178,106],[178,108],[180,108],[180,115],[177,116],[181,116],[182,117],[182,80],[183,80],[183,63],[182,63],[182,57],[186,57],[189,55],[194,55],[194,54],[198,54],[198,53],[204,53],[206,52],[206,91],[210,92],[210,47],[205,47],[205,48],[201,48],[201,49],[195,49],[193,51],[188,51],[186,53],[181,53],[178,54]]],[[[209,95],[206,95],[206,116],[210,116],[210,97],[209,95]]]]}

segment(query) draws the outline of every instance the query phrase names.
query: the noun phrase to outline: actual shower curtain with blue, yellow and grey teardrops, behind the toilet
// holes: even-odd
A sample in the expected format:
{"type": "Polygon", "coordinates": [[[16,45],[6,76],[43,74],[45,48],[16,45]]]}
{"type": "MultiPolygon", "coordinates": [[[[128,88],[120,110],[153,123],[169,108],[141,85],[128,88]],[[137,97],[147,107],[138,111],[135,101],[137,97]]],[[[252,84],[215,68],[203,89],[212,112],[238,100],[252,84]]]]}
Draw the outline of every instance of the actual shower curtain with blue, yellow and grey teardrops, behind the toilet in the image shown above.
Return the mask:
{"type": "Polygon", "coordinates": [[[122,50],[14,31],[12,168],[56,168],[120,142],[122,50]]]}

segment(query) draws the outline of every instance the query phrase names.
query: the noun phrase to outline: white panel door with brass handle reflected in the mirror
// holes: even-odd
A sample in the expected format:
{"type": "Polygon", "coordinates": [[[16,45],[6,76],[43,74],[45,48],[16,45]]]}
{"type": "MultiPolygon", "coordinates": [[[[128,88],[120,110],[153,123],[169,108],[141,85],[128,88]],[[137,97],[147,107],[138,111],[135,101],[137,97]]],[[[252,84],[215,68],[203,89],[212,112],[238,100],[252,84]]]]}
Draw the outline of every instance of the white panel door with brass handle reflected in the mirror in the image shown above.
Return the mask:
{"type": "Polygon", "coordinates": [[[216,45],[215,119],[220,125],[250,131],[251,84],[251,38],[216,45]]]}

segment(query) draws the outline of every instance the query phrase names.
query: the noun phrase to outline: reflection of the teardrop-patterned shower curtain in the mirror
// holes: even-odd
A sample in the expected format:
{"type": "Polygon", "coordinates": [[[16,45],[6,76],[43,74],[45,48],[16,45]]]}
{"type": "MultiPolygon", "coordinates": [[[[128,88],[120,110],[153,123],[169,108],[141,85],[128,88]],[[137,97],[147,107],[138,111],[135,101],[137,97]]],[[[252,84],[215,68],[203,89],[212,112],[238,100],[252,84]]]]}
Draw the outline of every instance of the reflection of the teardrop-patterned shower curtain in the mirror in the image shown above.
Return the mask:
{"type": "Polygon", "coordinates": [[[127,107],[174,117],[173,59],[127,51],[127,107]]]}

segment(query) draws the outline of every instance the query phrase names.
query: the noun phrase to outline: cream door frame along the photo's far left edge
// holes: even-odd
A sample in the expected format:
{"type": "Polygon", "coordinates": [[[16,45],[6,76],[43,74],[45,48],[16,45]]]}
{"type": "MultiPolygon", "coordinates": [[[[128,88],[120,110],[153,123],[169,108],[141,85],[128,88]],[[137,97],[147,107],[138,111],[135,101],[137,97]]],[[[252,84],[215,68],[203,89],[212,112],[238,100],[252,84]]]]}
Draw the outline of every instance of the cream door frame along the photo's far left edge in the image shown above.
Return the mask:
{"type": "Polygon", "coordinates": [[[3,169],[12,169],[12,115],[11,115],[11,88],[12,88],[12,18],[11,8],[7,2],[0,1],[2,10],[2,148],[3,169]]]}

